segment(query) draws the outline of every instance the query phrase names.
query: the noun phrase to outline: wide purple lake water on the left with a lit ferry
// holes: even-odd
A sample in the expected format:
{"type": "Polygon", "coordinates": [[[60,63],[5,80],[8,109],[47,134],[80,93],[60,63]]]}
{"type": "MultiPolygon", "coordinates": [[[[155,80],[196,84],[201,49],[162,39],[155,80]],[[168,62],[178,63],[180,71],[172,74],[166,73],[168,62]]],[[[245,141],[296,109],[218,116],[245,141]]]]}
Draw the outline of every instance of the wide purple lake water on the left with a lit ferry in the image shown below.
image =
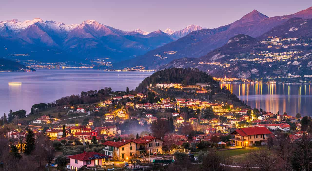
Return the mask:
{"type": "Polygon", "coordinates": [[[0,116],[10,109],[24,109],[33,104],[49,103],[81,91],[135,89],[151,72],[105,72],[92,69],[39,69],[31,73],[0,73],[0,116]],[[18,82],[18,83],[9,83],[18,82]]]}

